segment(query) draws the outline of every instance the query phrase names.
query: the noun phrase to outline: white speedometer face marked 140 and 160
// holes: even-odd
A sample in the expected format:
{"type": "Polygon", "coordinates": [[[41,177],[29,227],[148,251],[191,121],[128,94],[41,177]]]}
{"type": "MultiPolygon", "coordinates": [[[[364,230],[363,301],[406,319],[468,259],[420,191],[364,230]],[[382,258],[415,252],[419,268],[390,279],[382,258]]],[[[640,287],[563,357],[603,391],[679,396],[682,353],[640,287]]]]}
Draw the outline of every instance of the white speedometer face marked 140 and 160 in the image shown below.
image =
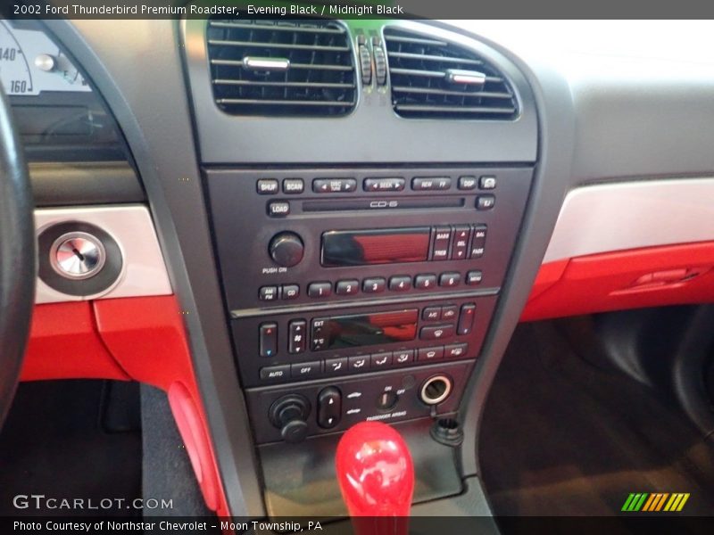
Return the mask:
{"type": "Polygon", "coordinates": [[[0,21],[0,80],[7,95],[91,91],[69,58],[42,31],[0,21]]]}

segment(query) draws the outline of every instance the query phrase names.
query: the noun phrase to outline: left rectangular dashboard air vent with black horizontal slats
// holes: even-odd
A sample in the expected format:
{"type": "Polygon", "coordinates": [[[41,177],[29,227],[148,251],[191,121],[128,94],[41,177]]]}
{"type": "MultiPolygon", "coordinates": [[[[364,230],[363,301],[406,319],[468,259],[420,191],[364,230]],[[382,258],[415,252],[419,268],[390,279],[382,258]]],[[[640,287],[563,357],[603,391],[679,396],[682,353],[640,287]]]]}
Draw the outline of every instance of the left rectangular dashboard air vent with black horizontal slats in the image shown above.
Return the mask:
{"type": "Polygon", "coordinates": [[[349,33],[335,21],[211,20],[213,96],[232,115],[340,116],[356,102],[349,33]]]}

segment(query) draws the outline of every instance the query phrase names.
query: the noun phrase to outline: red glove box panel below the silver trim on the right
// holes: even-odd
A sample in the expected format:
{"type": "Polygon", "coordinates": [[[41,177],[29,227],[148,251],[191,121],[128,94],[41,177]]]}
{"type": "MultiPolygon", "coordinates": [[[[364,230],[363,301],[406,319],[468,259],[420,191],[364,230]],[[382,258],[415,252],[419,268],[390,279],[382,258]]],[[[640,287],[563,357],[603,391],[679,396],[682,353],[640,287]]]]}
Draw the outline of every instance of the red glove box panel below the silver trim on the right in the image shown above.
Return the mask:
{"type": "Polygon", "coordinates": [[[521,321],[714,302],[712,268],[714,242],[558,260],[541,268],[521,321]]]}

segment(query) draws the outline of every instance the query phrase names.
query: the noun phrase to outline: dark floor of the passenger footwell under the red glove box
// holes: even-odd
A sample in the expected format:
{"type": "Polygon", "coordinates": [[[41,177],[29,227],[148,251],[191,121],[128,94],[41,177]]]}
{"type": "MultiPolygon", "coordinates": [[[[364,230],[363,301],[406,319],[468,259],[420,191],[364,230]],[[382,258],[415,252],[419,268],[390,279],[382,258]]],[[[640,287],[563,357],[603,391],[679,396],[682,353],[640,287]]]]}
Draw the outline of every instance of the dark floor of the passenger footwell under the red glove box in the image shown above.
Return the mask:
{"type": "Polygon", "coordinates": [[[689,493],[685,514],[714,514],[700,432],[668,399],[579,358],[557,322],[519,325],[479,455],[495,514],[617,514],[632,492],[689,493]]]}

